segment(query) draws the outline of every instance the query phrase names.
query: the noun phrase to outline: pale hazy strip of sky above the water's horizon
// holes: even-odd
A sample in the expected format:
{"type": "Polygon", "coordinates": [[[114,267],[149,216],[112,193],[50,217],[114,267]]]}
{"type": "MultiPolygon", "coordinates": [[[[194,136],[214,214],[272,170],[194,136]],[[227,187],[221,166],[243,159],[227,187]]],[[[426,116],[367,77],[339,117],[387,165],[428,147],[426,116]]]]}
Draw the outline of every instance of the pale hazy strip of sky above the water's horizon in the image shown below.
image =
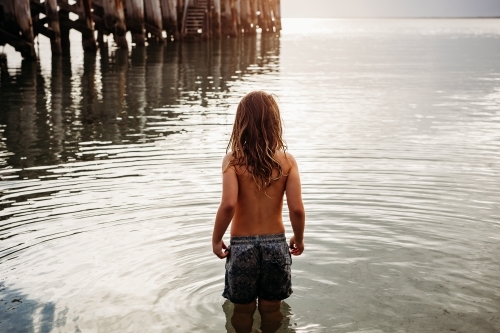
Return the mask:
{"type": "Polygon", "coordinates": [[[283,17],[500,17],[500,0],[281,0],[283,17]]]}

